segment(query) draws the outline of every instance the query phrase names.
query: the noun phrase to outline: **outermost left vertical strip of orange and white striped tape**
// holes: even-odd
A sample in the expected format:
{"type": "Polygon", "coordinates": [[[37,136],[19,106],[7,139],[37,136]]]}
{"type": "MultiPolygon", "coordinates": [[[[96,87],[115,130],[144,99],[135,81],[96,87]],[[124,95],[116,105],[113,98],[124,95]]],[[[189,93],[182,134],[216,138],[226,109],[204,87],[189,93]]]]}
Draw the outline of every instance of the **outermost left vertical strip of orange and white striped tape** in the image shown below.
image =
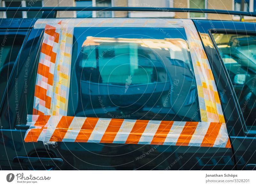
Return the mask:
{"type": "Polygon", "coordinates": [[[60,33],[56,27],[46,25],[41,48],[34,97],[33,114],[51,114],[53,74],[60,33]]]}

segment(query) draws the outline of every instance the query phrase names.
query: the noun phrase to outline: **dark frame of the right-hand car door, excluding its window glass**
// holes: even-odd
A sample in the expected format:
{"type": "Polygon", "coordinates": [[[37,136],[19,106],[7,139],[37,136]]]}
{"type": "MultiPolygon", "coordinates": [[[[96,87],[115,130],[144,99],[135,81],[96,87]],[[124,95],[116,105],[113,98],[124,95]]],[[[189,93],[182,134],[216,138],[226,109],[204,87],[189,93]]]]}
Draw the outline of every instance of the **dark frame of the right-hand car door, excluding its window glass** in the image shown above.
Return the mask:
{"type": "Polygon", "coordinates": [[[224,117],[234,151],[236,167],[238,170],[246,169],[246,165],[256,163],[256,140],[255,137],[253,137],[255,134],[248,134],[231,80],[228,77],[228,72],[223,62],[220,60],[218,49],[216,50],[216,45],[214,44],[211,33],[222,31],[239,34],[241,32],[246,35],[255,33],[256,25],[255,23],[248,22],[214,20],[200,20],[200,23],[195,21],[195,25],[204,43],[206,53],[212,65],[215,80],[219,80],[216,82],[217,89],[219,92],[226,90],[225,95],[222,97],[223,100],[226,100],[226,102],[222,104],[222,109],[224,110],[224,117]]]}

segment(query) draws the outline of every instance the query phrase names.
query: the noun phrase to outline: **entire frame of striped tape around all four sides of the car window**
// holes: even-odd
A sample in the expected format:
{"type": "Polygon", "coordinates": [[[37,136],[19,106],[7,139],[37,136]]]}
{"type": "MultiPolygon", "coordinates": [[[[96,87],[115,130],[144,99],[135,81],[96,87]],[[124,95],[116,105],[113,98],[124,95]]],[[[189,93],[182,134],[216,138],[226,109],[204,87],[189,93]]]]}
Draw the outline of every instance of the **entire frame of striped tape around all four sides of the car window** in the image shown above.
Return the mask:
{"type": "Polygon", "coordinates": [[[28,115],[27,125],[30,128],[26,132],[24,141],[132,143],[230,148],[231,145],[212,70],[194,23],[189,19],[160,19],[157,20],[157,23],[156,19],[136,19],[132,22],[130,19],[115,20],[102,20],[102,23],[99,23],[99,19],[38,19],[36,21],[36,29],[42,28],[42,26],[45,27],[44,43],[48,43],[49,46],[42,47],[41,50],[40,68],[38,67],[37,72],[37,80],[40,81],[36,82],[40,91],[39,89],[35,90],[34,112],[33,115],[28,115]],[[156,24],[157,27],[184,27],[196,75],[202,122],[66,116],[70,83],[68,73],[70,72],[72,51],[70,38],[73,37],[73,28],[109,27],[111,24],[119,27],[148,27],[148,24],[155,27],[156,24]],[[61,40],[60,35],[62,35],[61,40]],[[61,45],[55,44],[60,42],[61,45]],[[56,46],[58,47],[57,50],[56,46]],[[47,56],[45,56],[44,50],[48,51],[46,52],[47,56]],[[56,56],[60,60],[52,61],[56,56]],[[61,73],[58,73],[64,57],[68,61],[65,64],[68,67],[65,69],[65,78],[60,76],[61,73]],[[56,62],[58,65],[55,65],[56,62]],[[41,68],[41,64],[49,68],[44,66],[44,68],[41,68]],[[41,76],[43,77],[41,78],[41,76]],[[58,97],[59,88],[56,85],[53,86],[56,79],[63,80],[65,83],[65,99],[58,97]],[[57,105],[54,104],[56,102],[57,105]]]}

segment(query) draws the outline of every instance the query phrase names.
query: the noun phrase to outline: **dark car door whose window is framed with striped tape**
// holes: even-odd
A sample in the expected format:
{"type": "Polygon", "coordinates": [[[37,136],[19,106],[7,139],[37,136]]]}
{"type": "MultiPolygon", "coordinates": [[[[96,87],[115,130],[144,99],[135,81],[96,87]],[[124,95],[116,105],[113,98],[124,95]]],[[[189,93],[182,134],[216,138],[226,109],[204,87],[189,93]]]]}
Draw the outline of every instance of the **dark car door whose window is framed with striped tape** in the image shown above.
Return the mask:
{"type": "MultiPolygon", "coordinates": [[[[4,134],[15,143],[4,168],[234,169],[191,20],[38,19],[31,33],[33,52],[16,77],[20,123],[6,114],[13,127],[4,134]]],[[[4,110],[15,104],[12,81],[4,110]]]]}

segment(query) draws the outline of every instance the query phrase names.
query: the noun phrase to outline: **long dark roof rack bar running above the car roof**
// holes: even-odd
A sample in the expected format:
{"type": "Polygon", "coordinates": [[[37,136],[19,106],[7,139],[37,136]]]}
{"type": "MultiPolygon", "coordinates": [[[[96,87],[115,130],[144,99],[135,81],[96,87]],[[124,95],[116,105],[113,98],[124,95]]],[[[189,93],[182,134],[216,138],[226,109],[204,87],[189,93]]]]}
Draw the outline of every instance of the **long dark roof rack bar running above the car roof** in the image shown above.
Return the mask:
{"type": "Polygon", "coordinates": [[[164,8],[164,7],[0,7],[0,12],[6,11],[152,11],[152,12],[196,12],[213,14],[230,14],[256,17],[255,12],[231,10],[196,9],[196,8],[164,8]]]}

